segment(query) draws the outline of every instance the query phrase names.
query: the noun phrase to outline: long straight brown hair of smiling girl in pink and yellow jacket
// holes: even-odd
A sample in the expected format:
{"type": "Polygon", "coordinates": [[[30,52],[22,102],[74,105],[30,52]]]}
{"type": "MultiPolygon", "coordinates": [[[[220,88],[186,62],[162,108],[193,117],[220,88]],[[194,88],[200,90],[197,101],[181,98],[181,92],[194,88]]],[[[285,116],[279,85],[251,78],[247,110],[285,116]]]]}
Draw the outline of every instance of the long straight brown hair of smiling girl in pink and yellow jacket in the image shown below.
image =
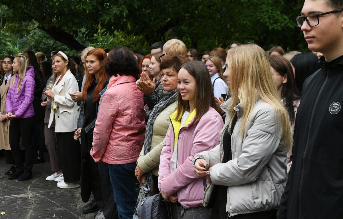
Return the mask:
{"type": "MultiPolygon", "coordinates": [[[[209,107],[217,109],[214,100],[213,88],[209,71],[205,64],[201,61],[189,61],[181,65],[196,81],[194,109],[196,116],[194,124],[197,124],[201,117],[209,111],[209,107]]],[[[186,110],[189,109],[189,102],[182,100],[181,94],[178,94],[177,114],[176,118],[181,121],[181,117],[186,110]]]]}

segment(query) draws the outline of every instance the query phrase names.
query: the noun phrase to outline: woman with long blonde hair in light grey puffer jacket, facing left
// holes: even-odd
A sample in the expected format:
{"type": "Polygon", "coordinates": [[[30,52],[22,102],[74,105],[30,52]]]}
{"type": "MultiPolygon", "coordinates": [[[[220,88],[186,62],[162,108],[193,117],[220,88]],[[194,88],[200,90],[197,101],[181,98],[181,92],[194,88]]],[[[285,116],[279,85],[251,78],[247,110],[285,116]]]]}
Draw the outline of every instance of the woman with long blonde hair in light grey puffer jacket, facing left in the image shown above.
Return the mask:
{"type": "Polygon", "coordinates": [[[225,64],[231,98],[221,105],[226,122],[220,145],[193,159],[197,175],[212,182],[203,205],[212,206],[211,218],[272,219],[292,146],[288,114],[261,47],[232,48],[225,64]]]}

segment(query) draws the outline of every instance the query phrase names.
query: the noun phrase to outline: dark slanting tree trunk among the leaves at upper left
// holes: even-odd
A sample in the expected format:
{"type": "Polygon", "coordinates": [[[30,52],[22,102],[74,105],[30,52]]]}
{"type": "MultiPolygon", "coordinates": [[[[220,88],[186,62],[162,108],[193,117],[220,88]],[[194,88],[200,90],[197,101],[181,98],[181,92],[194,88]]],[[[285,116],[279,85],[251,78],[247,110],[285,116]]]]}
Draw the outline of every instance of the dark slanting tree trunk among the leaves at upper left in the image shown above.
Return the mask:
{"type": "Polygon", "coordinates": [[[63,43],[70,49],[81,51],[84,48],[86,48],[79,41],[77,41],[72,34],[69,34],[66,31],[61,30],[57,27],[44,28],[43,26],[39,26],[38,28],[43,30],[45,33],[47,33],[50,37],[54,38],[56,41],[63,43]]]}

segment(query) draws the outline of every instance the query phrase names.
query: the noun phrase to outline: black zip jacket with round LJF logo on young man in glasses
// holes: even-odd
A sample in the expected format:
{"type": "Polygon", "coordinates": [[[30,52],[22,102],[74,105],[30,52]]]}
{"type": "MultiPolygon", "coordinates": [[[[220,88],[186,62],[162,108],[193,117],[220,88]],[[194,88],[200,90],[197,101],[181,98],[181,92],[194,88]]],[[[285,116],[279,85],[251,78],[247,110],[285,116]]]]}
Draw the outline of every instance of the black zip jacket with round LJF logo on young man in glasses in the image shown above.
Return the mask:
{"type": "Polygon", "coordinates": [[[343,56],[304,82],[278,218],[343,218],[343,56]]]}

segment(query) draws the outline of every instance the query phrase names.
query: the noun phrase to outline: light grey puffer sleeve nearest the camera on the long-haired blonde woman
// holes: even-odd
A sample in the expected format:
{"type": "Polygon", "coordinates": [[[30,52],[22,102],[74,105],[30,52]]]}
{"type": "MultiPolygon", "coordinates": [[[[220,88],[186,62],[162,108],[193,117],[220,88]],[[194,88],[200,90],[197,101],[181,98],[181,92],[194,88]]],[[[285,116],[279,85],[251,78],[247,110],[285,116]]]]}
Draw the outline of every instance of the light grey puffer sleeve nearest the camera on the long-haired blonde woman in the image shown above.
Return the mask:
{"type": "MultiPolygon", "coordinates": [[[[249,121],[248,121],[249,122],[249,121]]],[[[252,121],[241,154],[224,164],[216,164],[210,171],[216,185],[241,185],[255,181],[268,164],[280,143],[282,126],[275,122],[272,107],[262,108],[252,121]]]]}

